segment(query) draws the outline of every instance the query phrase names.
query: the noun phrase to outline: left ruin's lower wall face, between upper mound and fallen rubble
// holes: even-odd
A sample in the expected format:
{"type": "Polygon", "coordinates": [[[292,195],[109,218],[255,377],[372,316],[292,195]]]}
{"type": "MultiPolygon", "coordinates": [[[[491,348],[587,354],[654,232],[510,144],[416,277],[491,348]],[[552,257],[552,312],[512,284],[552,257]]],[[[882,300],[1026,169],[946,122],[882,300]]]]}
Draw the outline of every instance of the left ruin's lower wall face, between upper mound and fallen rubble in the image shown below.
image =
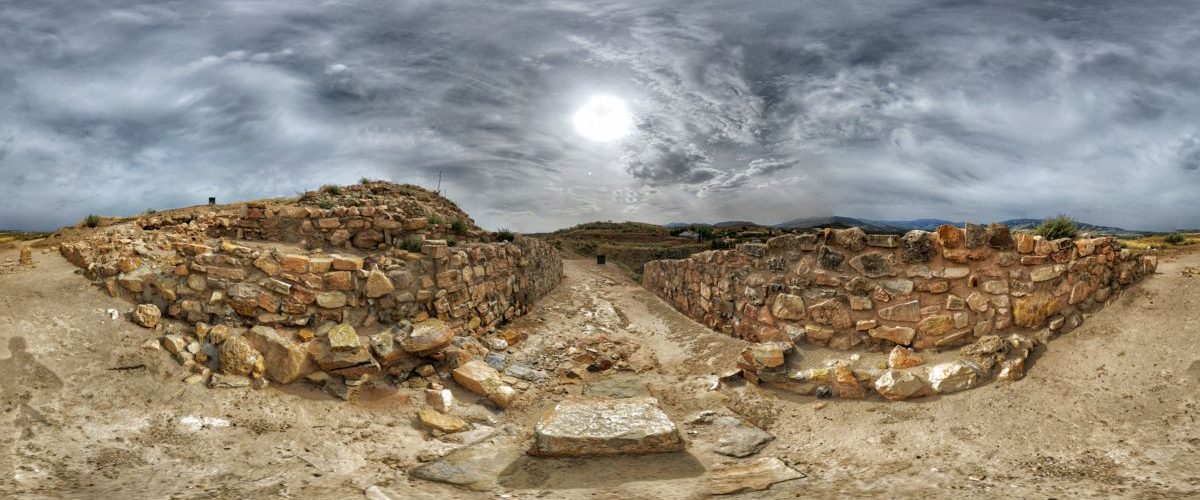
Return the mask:
{"type": "Polygon", "coordinates": [[[523,314],[562,277],[554,248],[535,239],[457,247],[430,240],[419,253],[368,255],[229,240],[167,245],[175,255],[133,252],[114,260],[118,245],[92,242],[60,251],[114,296],[154,303],[190,323],[247,326],[371,326],[428,317],[461,335],[486,335],[523,314]]]}

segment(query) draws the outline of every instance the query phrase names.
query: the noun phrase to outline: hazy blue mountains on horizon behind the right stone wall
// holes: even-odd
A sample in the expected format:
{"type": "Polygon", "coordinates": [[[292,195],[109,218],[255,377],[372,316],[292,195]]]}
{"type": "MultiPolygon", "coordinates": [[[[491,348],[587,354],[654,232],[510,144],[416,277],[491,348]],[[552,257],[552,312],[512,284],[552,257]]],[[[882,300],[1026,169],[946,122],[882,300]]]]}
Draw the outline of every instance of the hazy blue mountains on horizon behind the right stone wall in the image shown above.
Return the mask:
{"type": "MultiPolygon", "coordinates": [[[[1006,225],[1008,225],[1012,229],[1033,229],[1033,228],[1037,228],[1038,224],[1042,223],[1042,219],[1040,218],[1013,218],[1013,219],[1008,219],[1008,221],[1001,221],[1000,223],[1001,224],[1006,224],[1006,225]]],[[[857,218],[857,217],[827,216],[827,217],[800,217],[800,218],[793,218],[793,219],[787,221],[787,222],[782,222],[782,223],[779,223],[779,224],[770,224],[770,225],[755,224],[755,223],[748,222],[748,221],[726,221],[726,222],[718,222],[715,224],[672,222],[672,223],[665,224],[665,227],[667,227],[667,228],[686,228],[686,227],[694,227],[694,225],[710,225],[710,227],[718,227],[718,228],[727,228],[727,227],[762,225],[762,227],[781,228],[781,229],[850,228],[850,227],[858,227],[858,228],[862,228],[864,231],[868,231],[868,233],[906,233],[906,231],[911,231],[913,229],[920,229],[920,230],[931,231],[934,229],[937,229],[937,227],[942,225],[942,224],[953,224],[953,225],[962,227],[964,222],[962,221],[946,221],[946,219],[941,219],[941,218],[916,218],[916,219],[912,219],[912,221],[877,221],[877,219],[857,218]]],[[[1110,227],[1110,225],[1088,224],[1086,222],[1079,222],[1078,224],[1079,224],[1079,229],[1080,230],[1087,231],[1087,233],[1096,233],[1096,234],[1144,235],[1144,234],[1153,233],[1153,231],[1142,231],[1142,230],[1129,230],[1129,229],[1115,228],[1115,227],[1110,227]]]]}

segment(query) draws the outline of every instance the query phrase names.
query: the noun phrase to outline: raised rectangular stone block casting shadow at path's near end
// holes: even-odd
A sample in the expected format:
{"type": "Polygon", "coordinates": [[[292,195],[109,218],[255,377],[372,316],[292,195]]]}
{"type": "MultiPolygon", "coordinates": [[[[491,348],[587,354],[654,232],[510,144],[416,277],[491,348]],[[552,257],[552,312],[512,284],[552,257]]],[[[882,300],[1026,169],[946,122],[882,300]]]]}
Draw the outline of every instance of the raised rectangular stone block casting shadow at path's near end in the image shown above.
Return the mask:
{"type": "Polygon", "coordinates": [[[679,430],[655,398],[570,397],[538,421],[529,454],[596,457],[683,448],[679,430]]]}

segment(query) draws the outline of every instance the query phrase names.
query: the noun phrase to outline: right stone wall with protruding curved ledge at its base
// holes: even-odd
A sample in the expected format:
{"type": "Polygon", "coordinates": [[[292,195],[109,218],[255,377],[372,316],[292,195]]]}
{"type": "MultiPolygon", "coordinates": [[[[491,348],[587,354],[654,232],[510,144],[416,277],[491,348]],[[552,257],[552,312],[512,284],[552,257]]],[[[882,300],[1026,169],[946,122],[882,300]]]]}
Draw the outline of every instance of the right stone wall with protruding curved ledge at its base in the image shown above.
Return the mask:
{"type": "Polygon", "coordinates": [[[905,235],[851,228],[653,261],[643,284],[692,319],[757,343],[739,361],[752,381],[851,398],[874,387],[905,399],[974,386],[994,372],[1020,378],[1036,345],[1078,327],[1156,266],[1157,257],[1110,236],[1046,240],[1002,224],[905,235]],[[788,372],[798,344],[890,354],[877,367],[788,372]],[[955,349],[960,356],[942,365],[917,354],[955,349]]]}

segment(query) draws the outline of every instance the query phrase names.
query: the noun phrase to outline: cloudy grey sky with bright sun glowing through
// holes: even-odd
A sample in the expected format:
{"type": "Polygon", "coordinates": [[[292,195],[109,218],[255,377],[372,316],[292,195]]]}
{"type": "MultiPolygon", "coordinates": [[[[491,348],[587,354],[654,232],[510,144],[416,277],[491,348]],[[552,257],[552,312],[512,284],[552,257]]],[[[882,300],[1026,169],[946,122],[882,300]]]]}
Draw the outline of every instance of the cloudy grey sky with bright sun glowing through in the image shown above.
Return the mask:
{"type": "Polygon", "coordinates": [[[1060,212],[1196,228],[1200,8],[0,5],[0,228],[439,175],[481,227],[520,231],[1060,212]]]}

